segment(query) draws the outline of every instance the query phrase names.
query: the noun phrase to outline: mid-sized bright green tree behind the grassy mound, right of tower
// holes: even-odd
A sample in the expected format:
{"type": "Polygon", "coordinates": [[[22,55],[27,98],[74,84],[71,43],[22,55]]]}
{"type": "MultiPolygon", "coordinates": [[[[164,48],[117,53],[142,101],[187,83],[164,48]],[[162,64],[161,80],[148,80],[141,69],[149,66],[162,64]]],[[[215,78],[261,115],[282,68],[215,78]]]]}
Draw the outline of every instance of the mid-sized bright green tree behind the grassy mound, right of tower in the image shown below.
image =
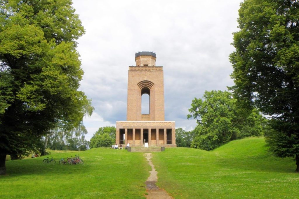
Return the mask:
{"type": "Polygon", "coordinates": [[[211,150],[228,141],[263,134],[265,121],[256,109],[246,114],[227,91],[205,91],[204,100],[192,101],[187,118],[197,119],[191,147],[211,150]]]}

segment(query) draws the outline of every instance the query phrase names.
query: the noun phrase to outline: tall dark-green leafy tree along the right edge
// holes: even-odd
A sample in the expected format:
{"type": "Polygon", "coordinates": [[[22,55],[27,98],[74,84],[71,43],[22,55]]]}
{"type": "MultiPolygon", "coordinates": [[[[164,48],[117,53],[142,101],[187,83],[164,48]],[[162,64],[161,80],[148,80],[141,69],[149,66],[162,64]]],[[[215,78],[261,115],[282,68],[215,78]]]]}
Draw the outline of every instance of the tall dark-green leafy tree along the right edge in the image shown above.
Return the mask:
{"type": "Polygon", "coordinates": [[[231,87],[243,107],[272,116],[267,140],[299,172],[299,2],[245,0],[239,9],[231,87]]]}

